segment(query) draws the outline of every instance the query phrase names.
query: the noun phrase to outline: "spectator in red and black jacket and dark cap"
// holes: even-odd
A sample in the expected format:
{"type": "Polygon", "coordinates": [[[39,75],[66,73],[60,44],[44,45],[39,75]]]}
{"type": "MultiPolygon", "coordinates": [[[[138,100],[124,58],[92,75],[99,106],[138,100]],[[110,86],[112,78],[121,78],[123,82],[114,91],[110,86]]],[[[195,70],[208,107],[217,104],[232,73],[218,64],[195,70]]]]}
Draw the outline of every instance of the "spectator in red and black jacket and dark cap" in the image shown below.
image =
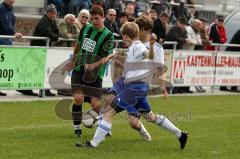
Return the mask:
{"type": "MultiPolygon", "coordinates": [[[[218,15],[215,22],[209,26],[208,35],[209,40],[212,43],[224,44],[227,41],[227,35],[224,27],[224,19],[223,15],[218,15]]],[[[216,50],[214,46],[207,46],[206,50],[216,50]]]]}

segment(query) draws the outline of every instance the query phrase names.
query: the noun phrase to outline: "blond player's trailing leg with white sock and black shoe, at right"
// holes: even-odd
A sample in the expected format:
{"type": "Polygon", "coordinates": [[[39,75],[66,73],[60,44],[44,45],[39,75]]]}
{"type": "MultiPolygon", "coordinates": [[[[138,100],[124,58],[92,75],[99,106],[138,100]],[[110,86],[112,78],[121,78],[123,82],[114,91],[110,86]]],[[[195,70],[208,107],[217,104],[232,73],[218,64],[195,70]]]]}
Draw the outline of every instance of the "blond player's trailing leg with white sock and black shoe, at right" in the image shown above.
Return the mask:
{"type": "Polygon", "coordinates": [[[181,149],[184,149],[187,142],[188,133],[182,132],[163,115],[157,115],[154,114],[153,112],[149,112],[145,115],[145,118],[147,121],[154,122],[160,127],[164,128],[165,130],[168,130],[169,132],[175,134],[176,137],[179,139],[181,149]]]}

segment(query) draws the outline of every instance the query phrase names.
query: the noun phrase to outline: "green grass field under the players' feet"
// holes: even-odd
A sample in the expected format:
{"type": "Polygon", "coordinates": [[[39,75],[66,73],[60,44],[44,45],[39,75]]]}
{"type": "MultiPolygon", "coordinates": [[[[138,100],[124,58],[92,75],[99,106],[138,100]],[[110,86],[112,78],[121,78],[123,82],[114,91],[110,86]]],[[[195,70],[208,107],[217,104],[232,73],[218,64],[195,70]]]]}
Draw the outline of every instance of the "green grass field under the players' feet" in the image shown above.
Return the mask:
{"type": "MultiPolygon", "coordinates": [[[[240,96],[151,98],[163,112],[190,133],[181,151],[177,138],[144,121],[152,141],[143,141],[128,126],[125,113],[114,118],[113,136],[97,149],[75,147],[72,122],[55,114],[57,101],[0,103],[0,159],[237,159],[240,151],[240,96]]],[[[88,106],[86,105],[87,109],[88,106]]],[[[95,129],[83,129],[83,141],[95,129]]]]}

